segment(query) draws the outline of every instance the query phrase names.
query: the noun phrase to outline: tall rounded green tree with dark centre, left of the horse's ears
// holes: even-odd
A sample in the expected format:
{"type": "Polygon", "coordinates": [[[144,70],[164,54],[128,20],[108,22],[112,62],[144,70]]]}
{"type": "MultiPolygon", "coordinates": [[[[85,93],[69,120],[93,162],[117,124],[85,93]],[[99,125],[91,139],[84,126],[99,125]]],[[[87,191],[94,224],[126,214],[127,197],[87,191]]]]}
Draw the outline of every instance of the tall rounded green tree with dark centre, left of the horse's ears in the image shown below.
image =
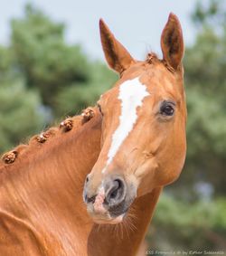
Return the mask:
{"type": "Polygon", "coordinates": [[[12,48],[26,85],[38,89],[58,117],[93,104],[116,79],[105,65],[90,62],[80,45],[65,43],[64,29],[33,5],[12,21],[12,48]]]}

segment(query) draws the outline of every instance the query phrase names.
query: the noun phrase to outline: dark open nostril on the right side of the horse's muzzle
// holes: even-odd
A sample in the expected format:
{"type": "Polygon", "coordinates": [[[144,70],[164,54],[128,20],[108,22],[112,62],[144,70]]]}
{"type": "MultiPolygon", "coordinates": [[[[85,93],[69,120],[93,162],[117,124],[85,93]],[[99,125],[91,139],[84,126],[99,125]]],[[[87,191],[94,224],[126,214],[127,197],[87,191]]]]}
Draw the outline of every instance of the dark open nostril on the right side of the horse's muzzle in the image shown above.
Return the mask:
{"type": "Polygon", "coordinates": [[[112,182],[106,195],[106,203],[118,204],[124,199],[125,185],[122,180],[116,179],[112,182]]]}

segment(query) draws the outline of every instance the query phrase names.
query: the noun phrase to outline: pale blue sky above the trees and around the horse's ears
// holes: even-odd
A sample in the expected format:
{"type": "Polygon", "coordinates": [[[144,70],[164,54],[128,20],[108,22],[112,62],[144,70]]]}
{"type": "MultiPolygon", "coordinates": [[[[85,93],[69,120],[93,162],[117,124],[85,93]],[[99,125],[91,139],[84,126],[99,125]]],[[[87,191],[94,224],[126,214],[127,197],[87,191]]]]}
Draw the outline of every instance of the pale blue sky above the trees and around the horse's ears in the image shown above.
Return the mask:
{"type": "MultiPolygon", "coordinates": [[[[202,0],[203,2],[204,0],[202,0]]],[[[9,22],[24,14],[26,0],[1,1],[0,43],[8,43],[9,22]]],[[[161,56],[160,36],[173,12],[183,27],[184,43],[193,43],[195,29],[190,14],[197,0],[30,0],[54,21],[66,24],[68,43],[80,43],[91,59],[104,59],[99,40],[99,18],[103,18],[118,40],[137,60],[149,51],[161,56]]]]}

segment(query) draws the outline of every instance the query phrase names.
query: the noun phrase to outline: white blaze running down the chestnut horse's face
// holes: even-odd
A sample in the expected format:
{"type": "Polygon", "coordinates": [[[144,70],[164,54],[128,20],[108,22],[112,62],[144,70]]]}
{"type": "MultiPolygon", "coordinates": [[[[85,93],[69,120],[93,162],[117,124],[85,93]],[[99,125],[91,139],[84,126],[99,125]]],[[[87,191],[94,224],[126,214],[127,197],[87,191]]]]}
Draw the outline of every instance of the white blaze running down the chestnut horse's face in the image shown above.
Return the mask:
{"type": "Polygon", "coordinates": [[[118,100],[121,100],[121,115],[119,117],[119,126],[112,136],[112,142],[108,151],[108,160],[103,168],[104,173],[108,165],[118,152],[118,148],[133,129],[137,121],[137,107],[142,106],[142,102],[149,93],[146,85],[139,81],[139,78],[125,81],[119,87],[118,100]]]}

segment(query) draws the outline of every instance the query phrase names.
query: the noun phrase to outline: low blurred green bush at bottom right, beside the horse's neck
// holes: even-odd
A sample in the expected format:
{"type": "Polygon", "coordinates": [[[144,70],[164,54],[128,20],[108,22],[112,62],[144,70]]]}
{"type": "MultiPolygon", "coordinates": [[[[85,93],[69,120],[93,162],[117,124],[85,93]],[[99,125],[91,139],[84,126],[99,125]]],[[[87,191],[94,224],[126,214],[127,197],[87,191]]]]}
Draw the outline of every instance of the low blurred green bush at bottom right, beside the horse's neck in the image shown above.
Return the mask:
{"type": "Polygon", "coordinates": [[[184,204],[164,194],[147,233],[149,246],[162,251],[225,251],[225,213],[225,198],[184,204]]]}

